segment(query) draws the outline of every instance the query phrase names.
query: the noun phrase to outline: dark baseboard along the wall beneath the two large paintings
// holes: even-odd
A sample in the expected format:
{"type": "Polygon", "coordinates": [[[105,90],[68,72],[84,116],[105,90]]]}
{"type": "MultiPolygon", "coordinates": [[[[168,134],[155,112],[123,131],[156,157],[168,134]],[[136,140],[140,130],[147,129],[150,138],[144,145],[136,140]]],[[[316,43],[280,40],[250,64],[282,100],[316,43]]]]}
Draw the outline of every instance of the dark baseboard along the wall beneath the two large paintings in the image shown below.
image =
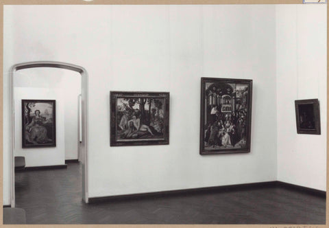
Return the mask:
{"type": "Polygon", "coordinates": [[[162,192],[148,192],[148,193],[138,193],[138,194],[127,194],[120,196],[101,196],[101,197],[90,197],[88,198],[89,203],[101,203],[104,201],[117,201],[125,199],[140,199],[147,197],[159,197],[159,196],[173,196],[173,195],[182,195],[182,194],[197,194],[201,192],[228,192],[236,190],[245,190],[249,188],[259,188],[259,187],[273,187],[276,185],[276,181],[267,181],[259,183],[245,183],[239,185],[224,185],[224,186],[214,186],[214,187],[198,187],[190,188],[186,190],[170,190],[162,192]]]}

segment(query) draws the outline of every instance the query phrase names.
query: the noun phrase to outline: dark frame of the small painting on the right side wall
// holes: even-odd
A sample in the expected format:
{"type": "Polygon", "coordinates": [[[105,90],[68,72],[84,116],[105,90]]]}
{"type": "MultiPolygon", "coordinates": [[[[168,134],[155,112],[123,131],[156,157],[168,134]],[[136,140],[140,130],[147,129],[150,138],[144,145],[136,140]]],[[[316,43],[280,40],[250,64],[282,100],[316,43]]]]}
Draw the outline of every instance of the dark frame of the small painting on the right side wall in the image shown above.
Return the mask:
{"type": "Polygon", "coordinates": [[[295,100],[295,113],[296,113],[297,134],[321,135],[319,100],[317,100],[317,99],[295,100]],[[306,128],[300,127],[300,115],[299,115],[298,108],[301,104],[312,104],[313,105],[313,115],[315,118],[315,129],[306,129],[306,128]]]}

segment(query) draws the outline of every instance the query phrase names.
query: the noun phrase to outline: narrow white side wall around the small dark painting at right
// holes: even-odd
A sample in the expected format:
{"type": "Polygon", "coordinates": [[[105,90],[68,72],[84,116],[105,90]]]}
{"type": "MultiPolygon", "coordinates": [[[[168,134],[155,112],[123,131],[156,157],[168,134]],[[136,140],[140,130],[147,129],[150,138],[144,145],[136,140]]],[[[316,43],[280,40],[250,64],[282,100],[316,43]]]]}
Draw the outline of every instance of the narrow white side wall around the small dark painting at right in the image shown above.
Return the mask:
{"type": "Polygon", "coordinates": [[[326,5],[278,5],[278,181],[326,190],[326,5]],[[321,135],[298,135],[295,100],[318,98],[321,135]]]}

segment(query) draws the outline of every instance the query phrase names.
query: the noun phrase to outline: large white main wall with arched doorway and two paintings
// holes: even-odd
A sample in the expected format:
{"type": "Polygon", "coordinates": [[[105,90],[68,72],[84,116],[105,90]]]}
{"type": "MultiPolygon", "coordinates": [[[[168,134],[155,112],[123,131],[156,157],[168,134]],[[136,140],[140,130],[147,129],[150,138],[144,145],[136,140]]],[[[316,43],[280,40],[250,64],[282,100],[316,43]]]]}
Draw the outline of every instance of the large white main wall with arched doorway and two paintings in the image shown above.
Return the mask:
{"type": "MultiPolygon", "coordinates": [[[[4,9],[4,76],[34,60],[88,71],[89,197],[277,180],[276,5],[4,9]],[[201,77],[254,80],[250,153],[199,155],[201,77]],[[169,91],[170,144],[110,147],[110,91],[169,91]]],[[[3,83],[6,93],[6,77],[3,83]]],[[[5,136],[4,202],[8,142],[5,136]]]]}

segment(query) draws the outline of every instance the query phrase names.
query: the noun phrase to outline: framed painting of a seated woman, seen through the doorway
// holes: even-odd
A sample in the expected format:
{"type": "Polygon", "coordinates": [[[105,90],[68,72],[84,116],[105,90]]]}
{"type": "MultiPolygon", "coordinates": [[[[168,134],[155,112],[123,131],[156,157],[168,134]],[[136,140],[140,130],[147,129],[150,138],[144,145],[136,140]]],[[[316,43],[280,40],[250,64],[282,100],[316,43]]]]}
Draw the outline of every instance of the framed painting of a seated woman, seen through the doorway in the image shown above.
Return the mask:
{"type": "Polygon", "coordinates": [[[56,146],[56,100],[22,100],[22,147],[56,146]]]}

